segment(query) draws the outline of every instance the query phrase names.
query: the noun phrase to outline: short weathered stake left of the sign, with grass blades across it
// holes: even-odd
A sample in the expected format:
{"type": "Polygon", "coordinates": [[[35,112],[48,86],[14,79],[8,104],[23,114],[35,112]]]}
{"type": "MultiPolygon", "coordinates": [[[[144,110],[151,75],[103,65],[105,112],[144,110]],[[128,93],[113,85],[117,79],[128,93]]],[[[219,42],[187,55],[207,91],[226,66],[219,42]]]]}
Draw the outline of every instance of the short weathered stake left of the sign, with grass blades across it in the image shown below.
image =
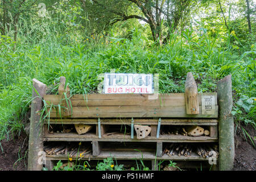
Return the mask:
{"type": "Polygon", "coordinates": [[[59,85],[59,96],[60,96],[60,100],[61,104],[66,107],[67,109],[62,109],[61,110],[61,116],[67,116],[67,115],[71,115],[71,104],[68,100],[65,100],[65,95],[64,93],[66,93],[67,98],[70,97],[70,89],[69,86],[67,85],[65,87],[66,84],[66,78],[64,76],[60,77],[60,85],[59,85]],[[68,104],[67,104],[68,102],[68,104]]]}

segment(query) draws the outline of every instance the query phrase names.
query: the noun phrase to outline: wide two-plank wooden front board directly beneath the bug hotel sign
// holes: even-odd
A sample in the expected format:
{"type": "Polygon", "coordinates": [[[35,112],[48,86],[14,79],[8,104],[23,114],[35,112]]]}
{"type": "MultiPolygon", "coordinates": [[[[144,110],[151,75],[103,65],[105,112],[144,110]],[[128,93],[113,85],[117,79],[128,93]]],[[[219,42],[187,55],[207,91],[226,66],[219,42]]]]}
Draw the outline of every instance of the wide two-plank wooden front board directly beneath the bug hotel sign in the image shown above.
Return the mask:
{"type": "MultiPolygon", "coordinates": [[[[217,93],[203,93],[203,95],[217,93]]],[[[177,117],[177,118],[217,118],[218,106],[215,98],[215,113],[201,114],[201,100],[199,100],[200,114],[187,114],[184,93],[159,94],[156,100],[148,99],[148,94],[88,94],[74,95],[71,98],[72,116],[69,118],[121,118],[121,117],[177,117]]],[[[201,94],[199,94],[201,98],[201,94]]],[[[45,95],[48,104],[58,105],[59,95],[45,95]]],[[[59,118],[59,108],[51,109],[51,118],[59,118]]],[[[61,114],[61,117],[64,117],[61,114]]]]}

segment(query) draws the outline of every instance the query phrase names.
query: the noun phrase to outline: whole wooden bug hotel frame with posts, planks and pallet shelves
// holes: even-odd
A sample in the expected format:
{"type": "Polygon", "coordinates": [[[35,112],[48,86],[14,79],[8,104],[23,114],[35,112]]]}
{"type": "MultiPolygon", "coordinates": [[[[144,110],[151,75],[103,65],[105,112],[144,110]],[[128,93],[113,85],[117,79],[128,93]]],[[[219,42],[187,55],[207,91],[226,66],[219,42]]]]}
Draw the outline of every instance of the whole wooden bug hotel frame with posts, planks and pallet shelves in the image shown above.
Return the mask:
{"type": "MultiPolygon", "coordinates": [[[[152,169],[160,160],[207,161],[198,155],[184,156],[163,155],[163,143],[218,143],[220,170],[230,170],[234,162],[234,126],[232,110],[231,76],[226,76],[217,83],[217,93],[197,93],[197,86],[191,73],[187,75],[185,93],[159,94],[155,100],[148,99],[148,94],[87,94],[70,96],[65,77],[61,77],[59,94],[46,94],[46,85],[33,79],[34,89],[31,104],[30,140],[28,149],[28,170],[41,170],[43,142],[91,142],[92,153],[85,155],[85,160],[99,160],[108,157],[122,160],[141,159],[138,151],[101,150],[104,142],[150,142],[155,143],[155,152],[143,152],[144,160],[151,160],[152,169]],[[38,96],[39,94],[39,96],[38,96]],[[202,113],[202,96],[214,96],[214,111],[202,113]],[[61,105],[61,109],[52,108],[49,120],[40,123],[39,111],[42,98],[49,105],[61,105]],[[160,118],[160,119],[159,119],[160,118]],[[131,120],[133,122],[131,122],[131,120]],[[42,125],[43,123],[43,125],[42,125]],[[93,125],[93,133],[49,133],[47,125],[93,125]],[[131,125],[132,124],[132,125],[131,125]],[[150,126],[150,135],[138,139],[129,134],[108,134],[108,128],[114,125],[150,126]],[[183,135],[159,135],[160,126],[205,126],[209,136],[190,137],[183,135]],[[110,154],[111,153],[111,154],[110,154]]],[[[52,168],[54,160],[67,160],[67,155],[46,155],[46,166],[52,168]]]]}

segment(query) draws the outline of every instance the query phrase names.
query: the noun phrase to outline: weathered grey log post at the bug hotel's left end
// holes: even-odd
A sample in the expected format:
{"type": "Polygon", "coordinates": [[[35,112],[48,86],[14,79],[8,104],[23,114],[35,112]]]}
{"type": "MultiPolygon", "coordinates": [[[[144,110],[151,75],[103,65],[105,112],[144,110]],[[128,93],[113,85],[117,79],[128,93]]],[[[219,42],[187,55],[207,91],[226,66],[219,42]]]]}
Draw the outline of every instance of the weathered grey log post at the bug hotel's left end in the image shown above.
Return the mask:
{"type": "MultiPolygon", "coordinates": [[[[42,123],[40,123],[40,113],[42,110],[42,97],[46,94],[47,86],[42,82],[36,80],[33,81],[32,90],[32,104],[31,104],[31,119],[30,119],[30,137],[28,142],[28,170],[29,171],[40,171],[42,170],[42,154],[43,151],[43,131],[42,123]],[[35,91],[36,90],[36,91],[35,91]],[[39,96],[37,94],[39,93],[39,96]],[[40,155],[39,155],[40,154],[40,155]]],[[[43,122],[43,121],[42,121],[43,122]]]]}

